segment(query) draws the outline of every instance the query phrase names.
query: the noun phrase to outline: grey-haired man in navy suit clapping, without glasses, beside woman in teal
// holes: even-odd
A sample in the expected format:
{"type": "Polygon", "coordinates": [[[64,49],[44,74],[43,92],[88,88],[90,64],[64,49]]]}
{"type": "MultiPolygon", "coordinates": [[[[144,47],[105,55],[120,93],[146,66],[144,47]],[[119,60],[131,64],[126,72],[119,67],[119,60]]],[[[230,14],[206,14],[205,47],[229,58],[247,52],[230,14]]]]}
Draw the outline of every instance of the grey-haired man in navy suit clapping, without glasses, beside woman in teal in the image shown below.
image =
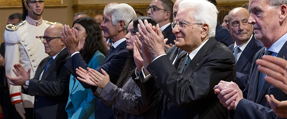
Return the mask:
{"type": "MultiPolygon", "coordinates": [[[[113,45],[110,47],[108,54],[103,63],[95,69],[102,73],[101,69],[106,71],[110,76],[110,81],[116,84],[118,76],[126,63],[129,50],[126,49],[126,34],[129,21],[136,17],[135,10],[128,4],[113,4],[104,10],[103,27],[104,37],[110,38],[113,45]]],[[[69,26],[64,26],[63,37],[74,36],[72,32],[68,32],[69,26]]],[[[74,77],[77,77],[76,68],[82,67],[88,68],[88,65],[83,60],[82,56],[78,51],[79,40],[75,39],[64,39],[64,43],[68,48],[71,59],[65,64],[66,68],[71,72],[74,77]]],[[[102,73],[103,74],[103,73],[102,73]]],[[[79,76],[80,77],[80,76],[79,76]]],[[[88,85],[85,82],[79,80],[79,82],[85,88],[91,88],[91,91],[95,91],[96,87],[88,85]]],[[[95,117],[96,119],[105,119],[113,117],[112,108],[106,106],[103,101],[96,98],[95,104],[95,117]]],[[[117,115],[120,116],[120,115],[117,115]]]]}

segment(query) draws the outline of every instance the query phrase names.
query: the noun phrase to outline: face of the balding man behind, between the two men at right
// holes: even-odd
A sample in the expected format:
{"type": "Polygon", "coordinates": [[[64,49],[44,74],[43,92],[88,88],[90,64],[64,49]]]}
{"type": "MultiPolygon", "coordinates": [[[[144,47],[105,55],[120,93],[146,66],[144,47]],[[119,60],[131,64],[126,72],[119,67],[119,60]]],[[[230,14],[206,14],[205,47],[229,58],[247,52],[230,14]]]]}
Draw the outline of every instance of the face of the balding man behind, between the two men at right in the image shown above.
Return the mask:
{"type": "Polygon", "coordinates": [[[249,17],[245,8],[236,8],[230,12],[228,28],[237,45],[247,42],[252,35],[252,25],[248,24],[249,17]]]}

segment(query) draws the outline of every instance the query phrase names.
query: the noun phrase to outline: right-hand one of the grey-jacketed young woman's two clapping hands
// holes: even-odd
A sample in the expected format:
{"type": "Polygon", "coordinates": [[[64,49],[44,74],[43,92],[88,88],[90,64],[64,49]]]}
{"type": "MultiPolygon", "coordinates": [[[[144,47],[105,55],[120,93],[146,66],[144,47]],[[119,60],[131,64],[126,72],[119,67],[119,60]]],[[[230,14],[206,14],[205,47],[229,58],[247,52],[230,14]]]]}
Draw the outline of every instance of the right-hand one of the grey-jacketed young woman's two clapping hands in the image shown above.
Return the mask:
{"type": "Polygon", "coordinates": [[[101,69],[101,71],[104,75],[91,68],[88,68],[88,70],[90,72],[89,75],[91,76],[91,81],[94,82],[94,84],[96,84],[99,88],[103,89],[106,84],[110,82],[109,75],[103,69],[101,69]]]}

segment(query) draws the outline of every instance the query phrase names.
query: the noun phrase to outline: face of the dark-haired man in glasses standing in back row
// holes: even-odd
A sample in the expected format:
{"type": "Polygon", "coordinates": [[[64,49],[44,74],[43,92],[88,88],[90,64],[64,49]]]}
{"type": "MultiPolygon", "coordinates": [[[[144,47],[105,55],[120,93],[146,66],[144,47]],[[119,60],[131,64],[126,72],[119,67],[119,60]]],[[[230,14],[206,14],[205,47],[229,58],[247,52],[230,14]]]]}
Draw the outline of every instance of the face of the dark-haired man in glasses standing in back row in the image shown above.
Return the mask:
{"type": "Polygon", "coordinates": [[[157,23],[160,23],[162,21],[164,21],[164,13],[166,11],[164,11],[164,7],[161,5],[162,1],[159,0],[153,0],[150,4],[149,7],[157,7],[160,9],[155,8],[155,11],[151,11],[151,9],[149,9],[146,13],[148,17],[153,18],[157,23]]]}

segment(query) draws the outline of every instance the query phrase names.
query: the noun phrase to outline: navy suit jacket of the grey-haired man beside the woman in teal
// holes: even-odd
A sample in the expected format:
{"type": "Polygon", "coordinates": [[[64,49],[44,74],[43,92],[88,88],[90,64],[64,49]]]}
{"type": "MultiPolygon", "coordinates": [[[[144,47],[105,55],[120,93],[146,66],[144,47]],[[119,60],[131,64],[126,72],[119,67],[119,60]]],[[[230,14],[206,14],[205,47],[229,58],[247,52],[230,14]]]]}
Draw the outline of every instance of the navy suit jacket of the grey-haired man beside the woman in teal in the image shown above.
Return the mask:
{"type": "MultiPolygon", "coordinates": [[[[110,82],[116,84],[118,76],[120,75],[123,66],[126,63],[127,56],[129,55],[129,50],[126,49],[126,42],[120,43],[110,54],[106,56],[104,62],[95,69],[96,71],[102,73],[101,68],[109,74],[110,82]]],[[[87,63],[83,60],[80,53],[74,54],[70,60],[65,64],[65,67],[71,72],[74,77],[77,77],[76,68],[82,67],[84,69],[88,68],[87,63]]],[[[103,74],[103,73],[102,73],[103,74]]],[[[96,90],[96,87],[90,86],[82,81],[79,82],[85,88],[91,88],[91,90],[96,90]]],[[[95,104],[95,118],[105,119],[114,118],[112,108],[108,107],[103,103],[102,100],[96,98],[95,104]]]]}

